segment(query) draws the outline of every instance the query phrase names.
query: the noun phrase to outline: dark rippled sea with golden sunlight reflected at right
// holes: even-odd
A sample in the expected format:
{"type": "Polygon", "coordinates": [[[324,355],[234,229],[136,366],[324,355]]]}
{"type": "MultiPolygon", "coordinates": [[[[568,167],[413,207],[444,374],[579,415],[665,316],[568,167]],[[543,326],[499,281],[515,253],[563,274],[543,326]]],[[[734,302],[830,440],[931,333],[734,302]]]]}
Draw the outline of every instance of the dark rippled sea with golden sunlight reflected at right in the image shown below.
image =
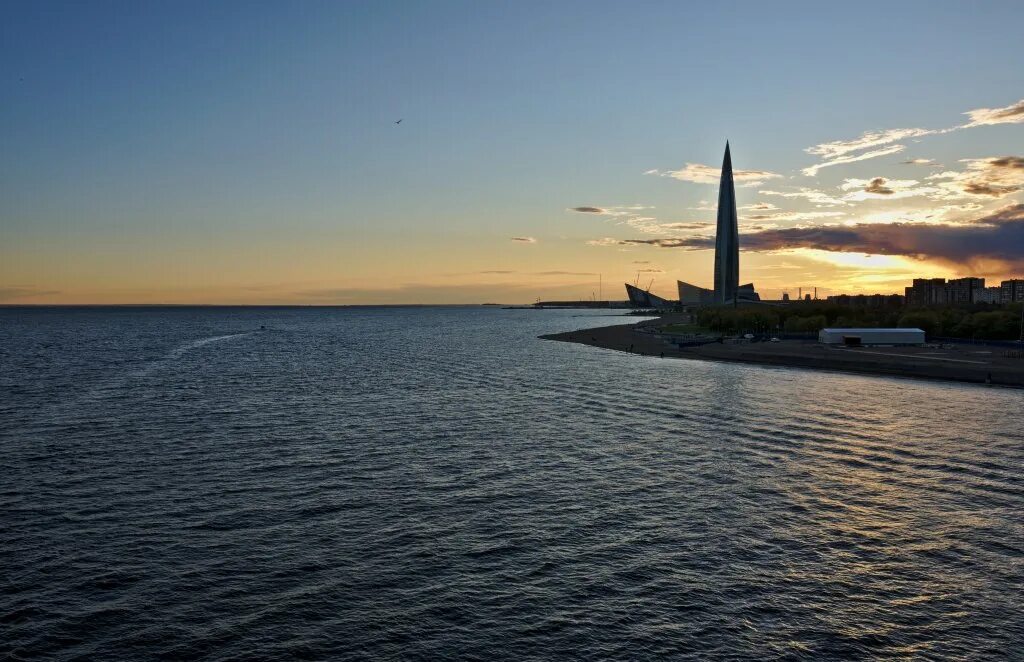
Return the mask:
{"type": "Polygon", "coordinates": [[[580,315],[0,309],[0,657],[1022,659],[1024,392],[580,315]]]}

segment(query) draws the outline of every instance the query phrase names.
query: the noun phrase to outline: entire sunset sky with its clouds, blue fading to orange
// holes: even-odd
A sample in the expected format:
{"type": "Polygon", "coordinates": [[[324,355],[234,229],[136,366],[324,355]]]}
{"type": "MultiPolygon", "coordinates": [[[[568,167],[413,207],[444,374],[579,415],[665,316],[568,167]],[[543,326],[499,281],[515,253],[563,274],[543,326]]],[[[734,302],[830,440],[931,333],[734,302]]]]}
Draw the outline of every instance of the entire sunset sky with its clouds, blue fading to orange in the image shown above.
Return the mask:
{"type": "Polygon", "coordinates": [[[0,303],[1024,278],[1024,3],[0,1],[0,303]],[[400,123],[396,124],[398,120],[400,123]]]}

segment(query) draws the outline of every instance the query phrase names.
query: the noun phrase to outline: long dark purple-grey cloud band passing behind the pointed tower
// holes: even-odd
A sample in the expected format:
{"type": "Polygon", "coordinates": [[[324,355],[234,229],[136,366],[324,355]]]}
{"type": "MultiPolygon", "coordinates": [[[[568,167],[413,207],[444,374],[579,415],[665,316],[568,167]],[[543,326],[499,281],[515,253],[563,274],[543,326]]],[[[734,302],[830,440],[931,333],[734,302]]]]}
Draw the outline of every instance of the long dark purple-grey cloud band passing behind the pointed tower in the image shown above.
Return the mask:
{"type": "MultiPolygon", "coordinates": [[[[703,250],[715,247],[714,237],[678,239],[623,239],[624,246],[703,250]]],[[[957,264],[984,260],[1024,268],[1024,204],[1005,207],[970,223],[857,223],[783,227],[743,235],[744,251],[809,248],[830,252],[902,255],[957,264]]]]}

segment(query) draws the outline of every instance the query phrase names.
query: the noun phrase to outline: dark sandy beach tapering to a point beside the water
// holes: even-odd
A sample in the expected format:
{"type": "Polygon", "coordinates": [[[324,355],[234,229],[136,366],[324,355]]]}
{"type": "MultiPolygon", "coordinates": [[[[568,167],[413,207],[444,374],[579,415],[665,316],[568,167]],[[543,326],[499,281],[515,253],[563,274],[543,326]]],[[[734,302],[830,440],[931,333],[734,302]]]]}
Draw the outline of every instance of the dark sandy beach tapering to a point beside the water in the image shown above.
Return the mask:
{"type": "Polygon", "coordinates": [[[665,318],[539,336],[542,340],[574,342],[644,357],[691,359],[761,366],[824,370],[884,377],[955,381],[1024,388],[1024,358],[991,345],[903,345],[839,347],[810,340],[780,342],[713,342],[688,347],[643,330],[665,324],[665,318]]]}

